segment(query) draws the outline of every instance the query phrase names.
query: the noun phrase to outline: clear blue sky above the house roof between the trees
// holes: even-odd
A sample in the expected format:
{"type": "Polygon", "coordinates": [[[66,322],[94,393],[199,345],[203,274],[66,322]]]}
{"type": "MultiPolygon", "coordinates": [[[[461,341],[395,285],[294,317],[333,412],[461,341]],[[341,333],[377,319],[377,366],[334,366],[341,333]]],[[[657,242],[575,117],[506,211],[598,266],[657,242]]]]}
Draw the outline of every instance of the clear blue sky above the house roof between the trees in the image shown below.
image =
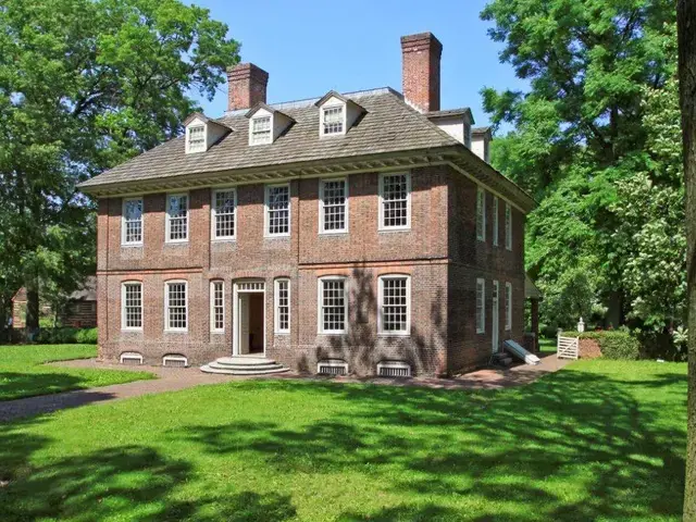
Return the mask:
{"type": "MultiPolygon", "coordinates": [[[[442,109],[470,107],[476,125],[488,123],[480,90],[523,88],[512,67],[498,61],[478,13],[486,0],[351,2],[194,0],[229,26],[243,62],[269,72],[268,101],[279,102],[389,86],[401,90],[399,37],[430,30],[443,42],[442,109]]],[[[226,89],[211,116],[226,109],[226,89]]]]}

